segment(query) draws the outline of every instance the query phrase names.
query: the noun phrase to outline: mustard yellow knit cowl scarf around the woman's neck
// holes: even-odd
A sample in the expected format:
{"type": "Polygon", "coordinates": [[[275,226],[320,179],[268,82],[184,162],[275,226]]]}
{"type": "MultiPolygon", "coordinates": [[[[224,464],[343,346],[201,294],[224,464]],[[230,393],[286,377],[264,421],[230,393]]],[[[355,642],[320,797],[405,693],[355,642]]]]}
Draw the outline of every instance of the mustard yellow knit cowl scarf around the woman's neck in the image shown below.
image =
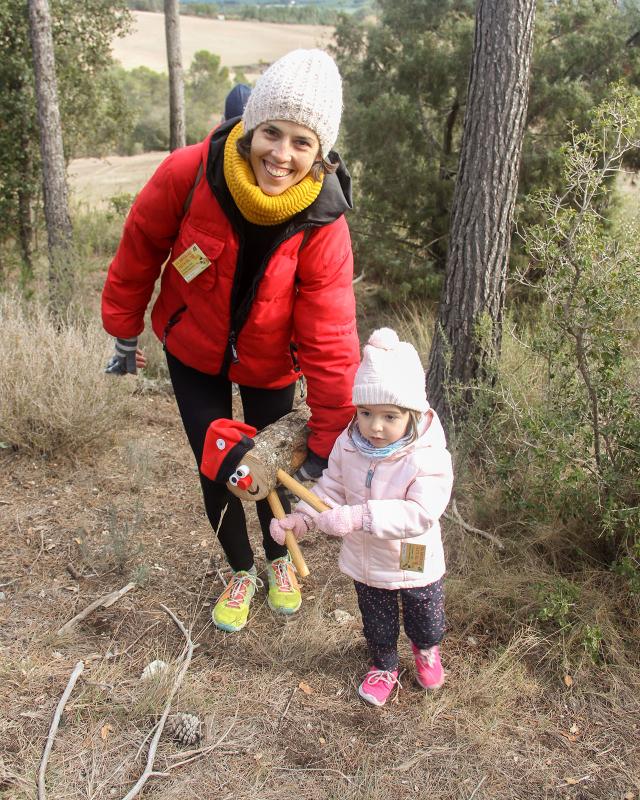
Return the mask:
{"type": "Polygon", "coordinates": [[[251,165],[238,152],[236,142],[244,134],[242,122],[229,133],[224,146],[224,178],[242,216],[254,225],[278,225],[313,203],[322,180],[306,175],[282,194],[265,194],[256,182],[251,165]]]}

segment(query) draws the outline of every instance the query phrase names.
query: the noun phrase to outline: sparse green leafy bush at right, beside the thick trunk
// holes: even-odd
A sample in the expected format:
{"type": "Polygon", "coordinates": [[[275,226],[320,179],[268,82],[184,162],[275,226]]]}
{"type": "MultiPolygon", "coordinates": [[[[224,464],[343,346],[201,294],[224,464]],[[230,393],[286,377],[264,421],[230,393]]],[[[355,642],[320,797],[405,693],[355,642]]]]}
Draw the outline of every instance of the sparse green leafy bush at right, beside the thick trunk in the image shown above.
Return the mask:
{"type": "Polygon", "coordinates": [[[538,305],[518,334],[520,363],[503,360],[467,432],[501,487],[503,514],[546,530],[557,564],[588,552],[631,588],[640,574],[640,239],[628,220],[611,221],[610,186],[638,146],[640,98],[617,88],[563,149],[564,192],[528,199],[541,222],[521,232],[529,262],[517,280],[538,305]]]}

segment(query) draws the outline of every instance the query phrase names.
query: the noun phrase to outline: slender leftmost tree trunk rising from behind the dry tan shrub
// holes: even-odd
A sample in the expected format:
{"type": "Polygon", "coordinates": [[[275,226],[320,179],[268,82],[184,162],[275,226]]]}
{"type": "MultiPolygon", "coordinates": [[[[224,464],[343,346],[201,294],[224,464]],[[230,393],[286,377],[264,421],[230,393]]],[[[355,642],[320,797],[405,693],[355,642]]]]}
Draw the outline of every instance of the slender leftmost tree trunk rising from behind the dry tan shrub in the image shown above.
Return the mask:
{"type": "Polygon", "coordinates": [[[67,199],[62,127],[58,108],[53,36],[48,0],[28,0],[36,105],[40,128],[44,214],[49,246],[49,303],[62,318],[73,288],[71,219],[67,199]]]}

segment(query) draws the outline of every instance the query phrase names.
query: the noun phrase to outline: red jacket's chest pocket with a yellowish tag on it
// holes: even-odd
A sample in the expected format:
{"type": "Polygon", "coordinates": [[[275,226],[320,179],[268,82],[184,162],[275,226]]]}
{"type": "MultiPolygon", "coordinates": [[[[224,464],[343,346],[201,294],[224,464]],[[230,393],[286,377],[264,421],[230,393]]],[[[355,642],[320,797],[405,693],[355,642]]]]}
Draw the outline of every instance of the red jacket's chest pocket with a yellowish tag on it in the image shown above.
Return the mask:
{"type": "Polygon", "coordinates": [[[219,274],[224,239],[184,223],[174,244],[170,263],[192,291],[211,291],[219,274]]]}

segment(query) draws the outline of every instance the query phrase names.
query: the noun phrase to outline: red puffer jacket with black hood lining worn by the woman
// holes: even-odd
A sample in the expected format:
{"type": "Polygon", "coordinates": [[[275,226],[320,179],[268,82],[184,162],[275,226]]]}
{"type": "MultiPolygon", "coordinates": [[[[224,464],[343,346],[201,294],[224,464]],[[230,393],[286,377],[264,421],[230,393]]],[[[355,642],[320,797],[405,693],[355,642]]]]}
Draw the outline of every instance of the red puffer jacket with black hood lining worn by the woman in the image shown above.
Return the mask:
{"type": "Polygon", "coordinates": [[[353,414],[359,362],[353,256],[343,213],[350,207],[348,173],[341,167],[342,176],[340,170],[327,176],[317,200],[286,227],[252,302],[238,316],[232,289],[241,242],[211,188],[211,160],[222,158],[228,130],[223,125],[204,142],[176,150],[138,195],[103,290],[104,327],[112,336],[140,334],[162,273],[153,330],[184,364],[226,373],[244,386],[281,388],[299,374],[294,341],[308,385],[309,447],[326,457],[353,414]],[[193,244],[211,264],[187,283],[172,262],[193,244]]]}

